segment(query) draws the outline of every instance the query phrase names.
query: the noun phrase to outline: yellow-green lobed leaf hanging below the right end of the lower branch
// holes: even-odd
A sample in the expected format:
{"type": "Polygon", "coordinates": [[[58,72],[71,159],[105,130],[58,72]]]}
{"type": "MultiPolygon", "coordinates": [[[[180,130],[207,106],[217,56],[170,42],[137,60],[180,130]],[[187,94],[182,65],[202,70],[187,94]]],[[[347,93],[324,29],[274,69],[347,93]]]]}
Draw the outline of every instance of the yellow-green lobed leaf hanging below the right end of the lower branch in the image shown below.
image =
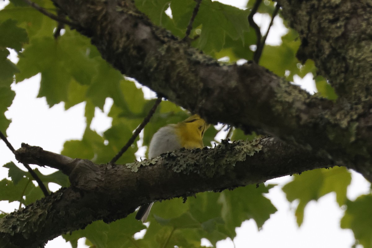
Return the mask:
{"type": "Polygon", "coordinates": [[[304,219],[306,205],[311,200],[318,200],[320,197],[330,193],[336,193],[336,200],[340,206],[345,204],[347,186],[351,182],[351,175],[344,167],[318,169],[305,171],[301,175],[294,175],[294,180],[283,186],[283,192],[289,202],[298,199],[295,216],[300,226],[304,219]]]}

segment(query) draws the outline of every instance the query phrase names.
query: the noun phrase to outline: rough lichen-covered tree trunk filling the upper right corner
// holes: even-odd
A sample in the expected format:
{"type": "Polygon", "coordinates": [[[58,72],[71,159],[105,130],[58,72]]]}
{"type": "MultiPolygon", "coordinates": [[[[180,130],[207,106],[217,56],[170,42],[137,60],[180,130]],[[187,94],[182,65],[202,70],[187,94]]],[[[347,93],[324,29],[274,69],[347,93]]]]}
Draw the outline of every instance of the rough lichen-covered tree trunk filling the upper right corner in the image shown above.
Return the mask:
{"type": "MultiPolygon", "coordinates": [[[[300,35],[300,61],[313,59],[336,93],[360,103],[371,97],[372,4],[370,1],[278,0],[300,35]]],[[[371,100],[369,100],[369,103],[371,100]]]]}

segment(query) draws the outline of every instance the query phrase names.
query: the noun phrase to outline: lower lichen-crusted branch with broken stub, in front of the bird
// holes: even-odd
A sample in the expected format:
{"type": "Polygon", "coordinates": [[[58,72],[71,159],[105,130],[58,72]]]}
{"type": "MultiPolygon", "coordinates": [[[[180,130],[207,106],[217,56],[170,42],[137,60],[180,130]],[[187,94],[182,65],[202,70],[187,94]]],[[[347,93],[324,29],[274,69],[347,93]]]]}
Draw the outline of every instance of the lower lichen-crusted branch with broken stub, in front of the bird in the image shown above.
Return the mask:
{"type": "Polygon", "coordinates": [[[73,160],[33,146],[24,145],[17,151],[22,162],[45,165],[45,157],[52,167],[73,168],[69,173],[72,186],[0,219],[0,247],[37,247],[94,220],[124,218],[143,203],[262,183],[332,164],[329,158],[275,138],[222,142],[213,149],[181,149],[127,165],[73,160]]]}

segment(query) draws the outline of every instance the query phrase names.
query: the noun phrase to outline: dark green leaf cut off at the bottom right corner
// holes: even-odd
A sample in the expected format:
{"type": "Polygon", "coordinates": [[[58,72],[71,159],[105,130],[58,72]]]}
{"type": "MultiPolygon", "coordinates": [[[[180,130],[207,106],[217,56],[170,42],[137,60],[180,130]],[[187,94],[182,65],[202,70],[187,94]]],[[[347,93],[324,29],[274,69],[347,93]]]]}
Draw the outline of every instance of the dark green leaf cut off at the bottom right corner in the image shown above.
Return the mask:
{"type": "Polygon", "coordinates": [[[372,247],[372,195],[359,196],[354,202],[347,201],[341,228],[351,229],[355,239],[364,248],[372,247]]]}

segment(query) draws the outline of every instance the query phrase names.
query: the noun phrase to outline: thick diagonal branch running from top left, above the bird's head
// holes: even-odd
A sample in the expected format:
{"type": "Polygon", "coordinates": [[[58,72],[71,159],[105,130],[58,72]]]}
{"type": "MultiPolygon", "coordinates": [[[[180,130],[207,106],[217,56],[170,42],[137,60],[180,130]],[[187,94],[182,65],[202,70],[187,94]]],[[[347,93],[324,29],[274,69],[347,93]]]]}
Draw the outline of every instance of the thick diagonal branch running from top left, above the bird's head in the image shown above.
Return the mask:
{"type": "MultiPolygon", "coordinates": [[[[102,57],[114,67],[172,102],[201,114],[209,123],[228,123],[244,131],[256,130],[295,141],[314,152],[330,155],[338,164],[349,165],[372,180],[370,101],[360,104],[341,99],[335,103],[310,96],[256,64],[220,65],[154,26],[129,0],[54,2],[70,19],[80,23],[79,31],[91,37],[102,57]]],[[[283,9],[291,9],[288,4],[280,4],[283,9]]],[[[311,10],[318,15],[322,11],[311,10]]],[[[323,35],[318,37],[323,39],[323,35]]],[[[325,42],[336,41],[324,40],[322,44],[325,42]]],[[[365,66],[370,65],[371,53],[360,53],[365,48],[355,47],[353,51],[349,68],[353,67],[352,61],[359,65],[360,59],[366,62],[365,66]],[[358,54],[360,57],[356,57],[358,54]]],[[[337,58],[337,62],[343,61],[343,57],[339,54],[334,63],[337,58]]],[[[366,80],[369,70],[364,71],[366,74],[357,71],[358,78],[365,78],[363,88],[358,90],[372,88],[372,80],[366,80]]],[[[339,78],[336,74],[329,74],[333,77],[329,79],[339,78]]]]}

